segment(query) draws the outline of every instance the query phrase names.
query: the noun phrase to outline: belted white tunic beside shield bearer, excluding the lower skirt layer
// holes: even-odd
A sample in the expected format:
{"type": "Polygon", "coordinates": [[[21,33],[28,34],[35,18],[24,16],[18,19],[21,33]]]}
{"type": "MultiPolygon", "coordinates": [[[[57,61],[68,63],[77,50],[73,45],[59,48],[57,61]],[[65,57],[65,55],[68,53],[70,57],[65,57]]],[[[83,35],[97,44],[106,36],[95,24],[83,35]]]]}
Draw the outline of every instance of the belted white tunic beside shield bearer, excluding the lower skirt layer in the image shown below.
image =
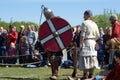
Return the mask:
{"type": "Polygon", "coordinates": [[[98,26],[92,20],[85,20],[82,24],[81,36],[85,37],[83,48],[80,52],[81,56],[97,56],[95,50],[96,40],[99,37],[98,26]]]}

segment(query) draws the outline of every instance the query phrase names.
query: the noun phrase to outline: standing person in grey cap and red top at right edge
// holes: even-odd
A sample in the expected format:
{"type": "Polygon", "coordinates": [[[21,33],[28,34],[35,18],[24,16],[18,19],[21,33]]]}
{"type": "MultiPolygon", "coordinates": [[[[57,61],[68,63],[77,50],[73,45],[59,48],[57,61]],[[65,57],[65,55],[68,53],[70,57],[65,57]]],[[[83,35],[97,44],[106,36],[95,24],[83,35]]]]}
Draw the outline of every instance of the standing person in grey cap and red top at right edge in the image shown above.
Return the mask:
{"type": "MultiPolygon", "coordinates": [[[[111,51],[110,51],[110,55],[109,55],[109,66],[110,69],[112,69],[114,67],[115,64],[115,60],[114,60],[114,52],[115,49],[118,49],[117,47],[115,47],[115,43],[116,41],[119,43],[119,39],[120,39],[120,22],[118,22],[118,17],[117,15],[111,15],[110,16],[110,23],[112,25],[112,35],[111,35],[111,40],[108,41],[109,46],[111,46],[111,51]]],[[[120,46],[120,44],[119,44],[120,46]]]]}

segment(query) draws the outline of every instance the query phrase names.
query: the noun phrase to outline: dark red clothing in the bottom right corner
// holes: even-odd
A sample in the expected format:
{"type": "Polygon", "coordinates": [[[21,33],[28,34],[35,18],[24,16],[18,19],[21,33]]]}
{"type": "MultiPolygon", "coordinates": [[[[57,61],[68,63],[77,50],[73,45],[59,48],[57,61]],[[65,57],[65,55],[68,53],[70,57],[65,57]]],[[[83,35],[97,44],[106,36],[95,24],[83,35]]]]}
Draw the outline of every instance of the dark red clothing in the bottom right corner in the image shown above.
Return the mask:
{"type": "Polygon", "coordinates": [[[115,65],[104,80],[120,80],[120,63],[115,65]]]}

